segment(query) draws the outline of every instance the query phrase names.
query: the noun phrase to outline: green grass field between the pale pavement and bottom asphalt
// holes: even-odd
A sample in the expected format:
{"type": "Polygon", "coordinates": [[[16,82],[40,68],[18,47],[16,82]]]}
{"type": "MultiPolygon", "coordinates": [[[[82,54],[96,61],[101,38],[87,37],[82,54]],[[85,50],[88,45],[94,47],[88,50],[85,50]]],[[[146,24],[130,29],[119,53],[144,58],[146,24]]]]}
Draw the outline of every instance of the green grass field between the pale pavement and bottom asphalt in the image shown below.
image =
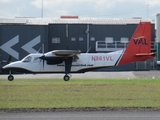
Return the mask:
{"type": "Polygon", "coordinates": [[[159,79],[0,79],[0,109],[160,107],[159,79]]]}

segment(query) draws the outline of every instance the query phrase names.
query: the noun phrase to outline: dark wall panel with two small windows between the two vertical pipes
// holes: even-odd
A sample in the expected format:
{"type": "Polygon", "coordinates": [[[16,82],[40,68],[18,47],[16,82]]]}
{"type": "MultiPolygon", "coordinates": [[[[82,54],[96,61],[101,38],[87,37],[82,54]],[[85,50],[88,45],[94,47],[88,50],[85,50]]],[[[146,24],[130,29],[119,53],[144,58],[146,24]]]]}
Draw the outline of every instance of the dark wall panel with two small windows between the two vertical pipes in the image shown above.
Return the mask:
{"type": "Polygon", "coordinates": [[[87,51],[87,25],[68,24],[68,49],[87,51]],[[75,38],[75,41],[72,38],[75,38]]]}

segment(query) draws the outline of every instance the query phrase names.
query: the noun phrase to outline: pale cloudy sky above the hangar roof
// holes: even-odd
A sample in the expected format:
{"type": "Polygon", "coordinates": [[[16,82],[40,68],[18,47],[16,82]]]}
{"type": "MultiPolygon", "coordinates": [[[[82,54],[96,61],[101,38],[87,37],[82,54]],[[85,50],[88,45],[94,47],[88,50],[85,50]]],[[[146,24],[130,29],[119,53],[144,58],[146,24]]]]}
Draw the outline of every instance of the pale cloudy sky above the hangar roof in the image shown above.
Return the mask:
{"type": "Polygon", "coordinates": [[[142,17],[155,21],[158,13],[160,0],[0,0],[0,18],[73,15],[80,18],[142,17]]]}

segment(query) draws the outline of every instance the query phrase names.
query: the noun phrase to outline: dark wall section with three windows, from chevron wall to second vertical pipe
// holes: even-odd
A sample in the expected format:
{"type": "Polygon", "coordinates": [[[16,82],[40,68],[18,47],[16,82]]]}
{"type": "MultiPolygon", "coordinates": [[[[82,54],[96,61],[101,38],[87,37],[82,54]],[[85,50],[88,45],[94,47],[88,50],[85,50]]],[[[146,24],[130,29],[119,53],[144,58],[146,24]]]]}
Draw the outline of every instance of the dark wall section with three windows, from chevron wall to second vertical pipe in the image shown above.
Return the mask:
{"type": "Polygon", "coordinates": [[[87,51],[87,25],[82,24],[50,24],[49,50],[81,50],[87,51]]]}

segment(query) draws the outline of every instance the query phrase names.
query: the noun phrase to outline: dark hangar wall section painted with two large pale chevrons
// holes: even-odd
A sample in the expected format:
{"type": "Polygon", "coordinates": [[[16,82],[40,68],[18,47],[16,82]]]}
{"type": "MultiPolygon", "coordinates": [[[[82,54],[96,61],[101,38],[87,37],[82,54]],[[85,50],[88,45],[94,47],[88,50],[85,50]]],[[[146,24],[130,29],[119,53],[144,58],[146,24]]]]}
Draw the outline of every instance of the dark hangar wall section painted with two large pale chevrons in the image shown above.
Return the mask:
{"type": "Polygon", "coordinates": [[[48,26],[25,26],[25,25],[3,25],[1,47],[4,60],[12,56],[12,61],[22,59],[29,54],[29,51],[38,51],[42,44],[45,45],[45,51],[48,51],[48,26]],[[24,47],[25,45],[28,45],[24,47]],[[13,53],[13,54],[12,54],[13,53]]]}

